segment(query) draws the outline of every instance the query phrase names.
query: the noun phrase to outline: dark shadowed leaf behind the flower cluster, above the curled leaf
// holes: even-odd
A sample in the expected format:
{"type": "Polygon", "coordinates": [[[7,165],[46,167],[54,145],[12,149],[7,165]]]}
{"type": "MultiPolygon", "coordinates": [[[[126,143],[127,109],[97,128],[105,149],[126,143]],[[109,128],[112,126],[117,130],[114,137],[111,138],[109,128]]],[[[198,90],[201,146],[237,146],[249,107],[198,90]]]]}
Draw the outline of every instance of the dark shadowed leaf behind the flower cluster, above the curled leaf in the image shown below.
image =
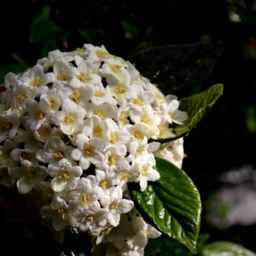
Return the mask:
{"type": "Polygon", "coordinates": [[[219,43],[168,45],[136,50],[130,60],[164,94],[180,98],[201,90],[222,51],[219,43]]]}

